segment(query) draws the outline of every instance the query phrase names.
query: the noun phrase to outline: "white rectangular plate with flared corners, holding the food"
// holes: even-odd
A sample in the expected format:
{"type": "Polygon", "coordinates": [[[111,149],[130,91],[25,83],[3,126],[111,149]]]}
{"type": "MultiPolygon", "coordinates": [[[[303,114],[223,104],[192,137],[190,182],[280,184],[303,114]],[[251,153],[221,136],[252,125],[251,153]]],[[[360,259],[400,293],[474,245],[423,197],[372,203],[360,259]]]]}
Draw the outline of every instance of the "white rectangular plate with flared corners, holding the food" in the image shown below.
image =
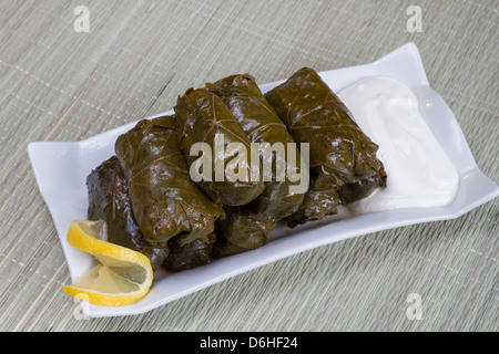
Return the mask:
{"type": "MultiPolygon", "coordinates": [[[[160,271],[154,275],[149,294],[141,301],[122,308],[89,305],[84,308],[86,315],[98,317],[143,313],[291,254],[379,230],[457,218],[499,195],[496,184],[478,169],[452,112],[430,88],[414,43],[407,43],[371,64],[319,74],[335,92],[371,75],[390,76],[408,85],[418,96],[422,117],[459,171],[460,187],[456,200],[440,208],[400,209],[329,218],[295,229],[278,227],[269,242],[257,250],[220,259],[180,273],[169,274],[160,271]]],[[[261,85],[261,88],[266,92],[279,83],[261,85]]],[[[135,123],[131,123],[82,142],[43,142],[28,146],[34,176],[53,217],[72,280],[92,264],[91,256],[72,248],[67,241],[70,222],[73,219],[86,218],[86,176],[92,168],[114,155],[118,136],[134,125],[135,123]]]]}

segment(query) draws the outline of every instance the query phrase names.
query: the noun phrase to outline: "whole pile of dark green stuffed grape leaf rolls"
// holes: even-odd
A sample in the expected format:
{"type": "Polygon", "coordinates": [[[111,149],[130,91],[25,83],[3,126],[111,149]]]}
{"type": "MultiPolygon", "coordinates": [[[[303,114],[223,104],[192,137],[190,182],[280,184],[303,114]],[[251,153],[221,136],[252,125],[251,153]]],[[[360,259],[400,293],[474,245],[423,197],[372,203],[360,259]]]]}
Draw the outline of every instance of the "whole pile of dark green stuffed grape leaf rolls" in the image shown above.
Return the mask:
{"type": "Polygon", "coordinates": [[[279,222],[319,220],[386,186],[377,149],[314,70],[265,94],[252,75],[230,75],[119,136],[115,156],[86,178],[88,218],[104,220],[108,241],[144,253],[154,270],[183,271],[263,247],[279,222]]]}

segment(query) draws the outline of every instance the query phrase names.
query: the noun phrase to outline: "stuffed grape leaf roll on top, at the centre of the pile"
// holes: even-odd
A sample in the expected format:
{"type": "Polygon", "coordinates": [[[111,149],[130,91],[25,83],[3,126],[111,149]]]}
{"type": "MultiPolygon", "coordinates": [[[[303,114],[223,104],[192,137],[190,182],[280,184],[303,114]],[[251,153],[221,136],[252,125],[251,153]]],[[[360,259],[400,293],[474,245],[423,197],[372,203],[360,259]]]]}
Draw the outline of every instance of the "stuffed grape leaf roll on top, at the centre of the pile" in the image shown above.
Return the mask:
{"type": "MultiPolygon", "coordinates": [[[[197,180],[197,185],[206,195],[218,205],[241,206],[262,194],[265,185],[262,180],[251,180],[251,164],[247,155],[241,155],[241,150],[224,150],[225,147],[237,145],[247,153],[251,149],[251,142],[218,96],[204,88],[189,88],[177,98],[174,110],[180,148],[187,164],[193,166],[198,160],[197,156],[191,156],[194,144],[207,144],[214,155],[214,158],[207,156],[211,158],[210,164],[202,168],[203,174],[207,174],[206,178],[197,180]],[[234,170],[237,169],[242,178],[231,180],[224,173],[234,160],[238,160],[234,170]],[[222,175],[220,176],[218,173],[222,175]]],[[[202,157],[206,157],[204,153],[202,157]]]]}

